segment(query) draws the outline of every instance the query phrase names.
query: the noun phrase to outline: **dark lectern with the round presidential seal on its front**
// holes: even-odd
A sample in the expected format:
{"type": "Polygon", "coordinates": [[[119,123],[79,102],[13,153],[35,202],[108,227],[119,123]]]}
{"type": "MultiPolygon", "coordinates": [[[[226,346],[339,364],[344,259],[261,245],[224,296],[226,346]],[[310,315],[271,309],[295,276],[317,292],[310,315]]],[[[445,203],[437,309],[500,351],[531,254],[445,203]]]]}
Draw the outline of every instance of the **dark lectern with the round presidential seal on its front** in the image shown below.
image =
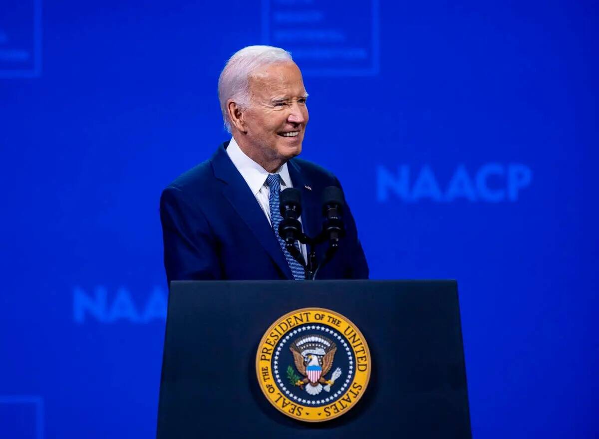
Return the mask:
{"type": "MultiPolygon", "coordinates": [[[[291,413],[295,405],[289,407],[291,413]]],[[[301,414],[305,416],[304,412],[301,414]]],[[[471,437],[455,281],[176,281],[171,284],[158,438],[305,439],[364,435],[420,439],[471,437]],[[337,410],[326,405],[329,402],[325,396],[332,401],[334,395],[341,395],[341,389],[351,390],[351,373],[355,371],[357,376],[361,362],[350,355],[353,351],[347,340],[351,337],[347,331],[343,335],[342,325],[334,331],[334,326],[325,329],[325,325],[310,320],[306,323],[297,317],[294,322],[289,317],[286,322],[297,325],[297,334],[291,331],[294,328],[288,332],[290,336],[294,334],[295,341],[283,338],[283,330],[287,329],[284,323],[279,328],[271,326],[281,316],[301,308],[326,308],[342,314],[359,328],[370,348],[370,380],[363,395],[343,416],[326,422],[302,422],[281,413],[267,399],[257,376],[256,353],[259,344],[270,340],[265,334],[267,329],[273,328],[272,340],[287,344],[278,349],[274,341],[267,341],[273,346],[272,350],[265,350],[268,355],[282,355],[280,370],[275,362],[274,370],[264,372],[265,376],[260,378],[279,381],[279,387],[285,390],[277,390],[285,397],[282,401],[299,401],[298,404],[304,401],[303,405],[313,410],[311,416],[322,413],[324,417],[326,408],[337,410]],[[337,352],[334,355],[340,359],[340,367],[325,376],[327,349],[337,352]],[[295,368],[289,359],[292,354],[299,358],[295,368]],[[288,357],[283,359],[283,355],[288,357]],[[298,372],[303,371],[302,356],[306,370],[311,370],[304,371],[305,378],[298,372]],[[315,358],[320,358],[320,365],[315,358]],[[317,376],[308,377],[314,371],[317,376]],[[350,387],[346,387],[348,384],[350,387]],[[296,400],[289,395],[297,395],[296,400]]]]}

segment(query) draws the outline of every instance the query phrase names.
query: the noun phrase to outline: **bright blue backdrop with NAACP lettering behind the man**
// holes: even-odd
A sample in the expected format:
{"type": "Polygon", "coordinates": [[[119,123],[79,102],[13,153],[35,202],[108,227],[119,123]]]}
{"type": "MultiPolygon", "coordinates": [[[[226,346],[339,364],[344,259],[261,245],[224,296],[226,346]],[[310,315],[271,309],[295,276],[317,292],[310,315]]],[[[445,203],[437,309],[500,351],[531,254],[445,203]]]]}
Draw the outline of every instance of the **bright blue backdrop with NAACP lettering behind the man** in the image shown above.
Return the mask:
{"type": "Polygon", "coordinates": [[[474,436],[597,437],[597,12],[0,0],[0,436],[155,434],[159,195],[228,140],[220,69],[267,43],[371,277],[458,279],[474,436]]]}

